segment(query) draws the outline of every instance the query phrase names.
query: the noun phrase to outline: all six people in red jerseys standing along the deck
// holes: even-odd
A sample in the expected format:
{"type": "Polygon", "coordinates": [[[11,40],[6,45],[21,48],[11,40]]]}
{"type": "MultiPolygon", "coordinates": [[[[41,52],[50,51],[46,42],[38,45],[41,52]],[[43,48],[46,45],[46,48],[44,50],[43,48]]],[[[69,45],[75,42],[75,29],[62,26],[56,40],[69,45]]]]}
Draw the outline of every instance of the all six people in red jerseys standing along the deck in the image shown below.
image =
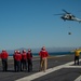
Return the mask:
{"type": "MultiPolygon", "coordinates": [[[[40,70],[45,71],[48,67],[48,56],[49,53],[45,50],[45,46],[41,49],[39,52],[40,56],[40,70]]],[[[0,58],[2,60],[2,69],[3,71],[8,70],[8,57],[9,53],[5,50],[2,50],[0,53],[0,58]]],[[[14,59],[14,71],[23,71],[26,70],[28,72],[32,71],[32,53],[31,50],[29,49],[28,52],[26,50],[21,51],[15,50],[13,54],[13,59],[14,59]]]]}

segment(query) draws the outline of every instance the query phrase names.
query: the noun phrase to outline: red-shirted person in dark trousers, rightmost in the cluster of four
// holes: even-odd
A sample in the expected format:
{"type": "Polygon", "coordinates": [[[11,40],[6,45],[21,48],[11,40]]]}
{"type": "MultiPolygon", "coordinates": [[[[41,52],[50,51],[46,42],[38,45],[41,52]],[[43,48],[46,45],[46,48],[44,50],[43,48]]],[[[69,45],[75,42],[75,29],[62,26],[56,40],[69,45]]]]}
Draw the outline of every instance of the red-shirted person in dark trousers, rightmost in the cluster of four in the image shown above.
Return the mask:
{"type": "Polygon", "coordinates": [[[28,50],[27,53],[27,60],[28,60],[28,72],[32,71],[32,53],[31,50],[28,50]]]}

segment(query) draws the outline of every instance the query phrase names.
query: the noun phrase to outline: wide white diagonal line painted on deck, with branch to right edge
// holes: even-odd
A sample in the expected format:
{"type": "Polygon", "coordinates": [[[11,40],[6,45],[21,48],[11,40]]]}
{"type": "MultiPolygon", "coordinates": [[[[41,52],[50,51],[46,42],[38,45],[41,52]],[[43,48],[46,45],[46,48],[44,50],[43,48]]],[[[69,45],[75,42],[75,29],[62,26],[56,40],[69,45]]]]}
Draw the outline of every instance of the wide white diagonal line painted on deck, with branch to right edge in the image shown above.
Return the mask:
{"type": "MultiPolygon", "coordinates": [[[[81,62],[81,59],[80,59],[81,62]]],[[[48,73],[51,73],[53,71],[56,71],[58,69],[62,69],[62,68],[81,68],[81,66],[70,66],[72,65],[75,62],[70,62],[70,63],[67,63],[67,64],[64,64],[64,65],[59,65],[59,66],[56,66],[56,67],[53,67],[53,68],[50,68],[48,69],[45,72],[41,71],[41,72],[37,72],[37,73],[33,73],[33,75],[30,75],[30,76],[27,76],[27,77],[24,77],[22,79],[18,79],[16,81],[31,81],[31,80],[35,80],[37,78],[40,78],[42,76],[45,76],[48,73]]],[[[80,77],[81,78],[81,77],[80,77]]],[[[80,81],[80,80],[79,80],[80,81]]]]}

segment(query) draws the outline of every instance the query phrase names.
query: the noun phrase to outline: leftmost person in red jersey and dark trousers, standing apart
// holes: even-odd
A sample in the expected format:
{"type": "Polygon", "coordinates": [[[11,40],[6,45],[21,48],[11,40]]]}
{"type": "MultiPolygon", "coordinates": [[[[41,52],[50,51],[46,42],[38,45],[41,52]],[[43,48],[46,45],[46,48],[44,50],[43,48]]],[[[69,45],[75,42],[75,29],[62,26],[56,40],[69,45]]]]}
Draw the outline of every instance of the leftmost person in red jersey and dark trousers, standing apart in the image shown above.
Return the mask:
{"type": "Polygon", "coordinates": [[[9,56],[8,52],[5,50],[2,50],[1,59],[3,71],[8,70],[8,56],[9,56]]]}

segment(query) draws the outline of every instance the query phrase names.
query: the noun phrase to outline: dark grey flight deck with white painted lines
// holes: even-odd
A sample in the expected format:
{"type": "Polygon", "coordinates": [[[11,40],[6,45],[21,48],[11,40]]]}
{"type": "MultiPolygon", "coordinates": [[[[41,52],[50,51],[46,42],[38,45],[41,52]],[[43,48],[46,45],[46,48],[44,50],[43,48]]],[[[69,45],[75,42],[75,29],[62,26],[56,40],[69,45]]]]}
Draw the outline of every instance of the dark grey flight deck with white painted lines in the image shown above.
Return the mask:
{"type": "Polygon", "coordinates": [[[3,72],[0,60],[0,81],[81,81],[77,79],[81,76],[81,63],[75,66],[73,55],[50,57],[48,62],[45,72],[39,71],[39,57],[32,59],[32,72],[14,72],[13,58],[9,57],[8,71],[3,72]]]}

